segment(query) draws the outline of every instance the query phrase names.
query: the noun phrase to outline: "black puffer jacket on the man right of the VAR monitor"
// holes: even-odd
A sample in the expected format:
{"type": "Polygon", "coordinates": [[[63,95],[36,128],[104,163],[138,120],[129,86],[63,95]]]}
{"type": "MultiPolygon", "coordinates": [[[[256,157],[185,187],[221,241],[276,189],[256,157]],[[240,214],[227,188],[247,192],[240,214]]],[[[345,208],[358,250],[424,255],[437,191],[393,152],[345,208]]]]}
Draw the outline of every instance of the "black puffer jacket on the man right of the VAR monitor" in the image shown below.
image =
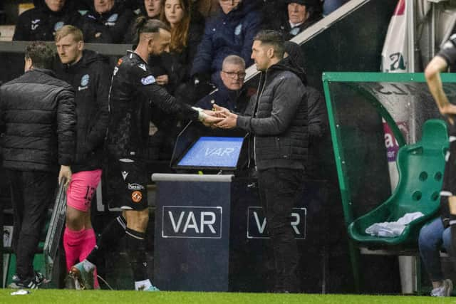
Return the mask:
{"type": "Polygon", "coordinates": [[[309,132],[304,70],[291,68],[286,59],[261,73],[257,93],[237,127],[254,135],[257,169],[304,169],[309,132]]]}

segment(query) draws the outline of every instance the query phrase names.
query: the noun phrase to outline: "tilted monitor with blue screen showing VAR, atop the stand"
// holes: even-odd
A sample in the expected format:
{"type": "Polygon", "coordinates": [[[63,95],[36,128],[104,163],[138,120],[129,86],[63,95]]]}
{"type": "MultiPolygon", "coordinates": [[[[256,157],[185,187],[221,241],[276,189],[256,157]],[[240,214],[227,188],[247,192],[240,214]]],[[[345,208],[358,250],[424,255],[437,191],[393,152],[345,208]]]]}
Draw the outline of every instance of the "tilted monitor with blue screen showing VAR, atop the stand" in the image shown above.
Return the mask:
{"type": "Polygon", "coordinates": [[[243,137],[199,137],[177,162],[177,168],[234,170],[243,141],[243,137]]]}

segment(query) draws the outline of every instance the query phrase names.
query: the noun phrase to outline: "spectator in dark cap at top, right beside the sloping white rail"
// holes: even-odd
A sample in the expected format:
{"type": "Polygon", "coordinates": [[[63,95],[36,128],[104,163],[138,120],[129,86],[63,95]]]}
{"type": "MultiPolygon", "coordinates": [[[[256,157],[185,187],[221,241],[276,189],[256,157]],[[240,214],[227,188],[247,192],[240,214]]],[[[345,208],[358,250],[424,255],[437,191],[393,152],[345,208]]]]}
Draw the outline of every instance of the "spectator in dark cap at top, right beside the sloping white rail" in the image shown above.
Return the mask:
{"type": "Polygon", "coordinates": [[[286,12],[279,18],[266,21],[264,28],[281,31],[285,40],[290,40],[322,18],[320,0],[285,0],[286,12]]]}

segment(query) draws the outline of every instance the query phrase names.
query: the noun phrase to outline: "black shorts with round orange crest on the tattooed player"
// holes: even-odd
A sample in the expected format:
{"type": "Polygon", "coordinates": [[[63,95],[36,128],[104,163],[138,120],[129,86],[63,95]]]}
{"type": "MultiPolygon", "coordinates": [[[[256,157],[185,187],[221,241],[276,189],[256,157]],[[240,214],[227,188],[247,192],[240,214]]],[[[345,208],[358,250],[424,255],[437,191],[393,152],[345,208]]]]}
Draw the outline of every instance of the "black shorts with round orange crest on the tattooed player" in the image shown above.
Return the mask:
{"type": "Polygon", "coordinates": [[[108,163],[110,208],[142,211],[147,208],[147,168],[138,159],[122,158],[108,163]]]}

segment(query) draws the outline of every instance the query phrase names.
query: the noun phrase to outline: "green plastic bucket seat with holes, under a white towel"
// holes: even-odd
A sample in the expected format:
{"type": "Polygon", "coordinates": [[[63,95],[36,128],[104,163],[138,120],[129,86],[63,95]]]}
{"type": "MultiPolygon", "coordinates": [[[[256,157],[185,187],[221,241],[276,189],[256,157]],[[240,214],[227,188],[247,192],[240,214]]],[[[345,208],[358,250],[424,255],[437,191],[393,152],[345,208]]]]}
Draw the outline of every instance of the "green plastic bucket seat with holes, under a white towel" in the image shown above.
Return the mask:
{"type": "Polygon", "coordinates": [[[396,159],[399,172],[398,187],[383,204],[353,221],[348,226],[348,235],[361,243],[417,243],[421,227],[437,216],[439,210],[448,145],[445,122],[427,120],[420,142],[400,147],[396,159]],[[422,212],[424,216],[405,226],[400,236],[391,238],[366,234],[366,228],[372,224],[397,221],[404,214],[417,211],[422,212]]]}

